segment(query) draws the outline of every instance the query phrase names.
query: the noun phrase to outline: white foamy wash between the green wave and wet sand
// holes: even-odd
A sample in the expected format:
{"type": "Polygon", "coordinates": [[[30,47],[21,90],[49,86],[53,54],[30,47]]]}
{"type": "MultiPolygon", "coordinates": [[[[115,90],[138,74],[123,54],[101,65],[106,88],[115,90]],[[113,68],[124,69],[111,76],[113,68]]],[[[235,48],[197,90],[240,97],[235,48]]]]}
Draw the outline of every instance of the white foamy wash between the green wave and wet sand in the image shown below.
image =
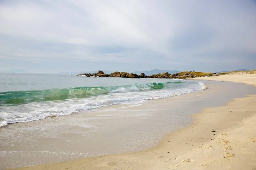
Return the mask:
{"type": "MultiPolygon", "coordinates": [[[[180,81],[180,79],[179,79],[180,81]]],[[[185,80],[181,80],[185,82],[185,80]]],[[[148,88],[148,87],[145,87],[148,88]]],[[[118,88],[110,94],[91,96],[80,99],[67,99],[66,101],[30,102],[23,105],[0,105],[0,127],[16,122],[30,122],[45,119],[49,116],[69,115],[109,105],[135,102],[139,104],[145,100],[160,99],[170,96],[179,96],[195,91],[205,90],[204,83],[191,83],[188,87],[182,86],[170,89],[153,91],[140,91],[136,86],[118,88]]],[[[130,106],[129,106],[130,107],[130,106]]]]}

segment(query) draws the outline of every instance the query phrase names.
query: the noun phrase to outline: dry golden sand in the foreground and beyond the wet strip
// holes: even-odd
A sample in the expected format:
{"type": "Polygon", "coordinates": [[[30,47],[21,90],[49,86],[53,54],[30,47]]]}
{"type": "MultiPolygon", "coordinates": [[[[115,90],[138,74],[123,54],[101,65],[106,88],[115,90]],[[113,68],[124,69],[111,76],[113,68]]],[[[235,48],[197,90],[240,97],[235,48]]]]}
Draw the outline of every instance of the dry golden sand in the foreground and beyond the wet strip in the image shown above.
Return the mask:
{"type": "MultiPolygon", "coordinates": [[[[256,86],[256,74],[221,75],[206,80],[256,86]]],[[[193,123],[166,134],[153,148],[19,170],[256,170],[256,95],[206,108],[193,123]]]]}

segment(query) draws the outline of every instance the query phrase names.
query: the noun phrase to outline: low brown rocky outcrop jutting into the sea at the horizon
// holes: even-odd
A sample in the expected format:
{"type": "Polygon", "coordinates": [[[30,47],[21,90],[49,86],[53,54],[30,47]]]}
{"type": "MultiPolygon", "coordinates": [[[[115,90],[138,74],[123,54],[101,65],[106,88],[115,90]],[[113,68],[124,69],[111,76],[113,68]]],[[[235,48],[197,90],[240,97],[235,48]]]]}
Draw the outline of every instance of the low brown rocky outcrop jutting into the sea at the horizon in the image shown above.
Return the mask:
{"type": "Polygon", "coordinates": [[[105,74],[103,71],[98,71],[98,73],[81,73],[77,76],[86,76],[86,77],[122,77],[122,78],[131,78],[131,79],[140,79],[140,78],[154,78],[154,79],[186,79],[186,78],[194,78],[193,74],[185,73],[183,75],[180,74],[169,74],[168,72],[151,74],[150,76],[146,76],[144,73],[140,75],[127,73],[127,72],[118,72],[115,71],[111,74],[105,74]]]}

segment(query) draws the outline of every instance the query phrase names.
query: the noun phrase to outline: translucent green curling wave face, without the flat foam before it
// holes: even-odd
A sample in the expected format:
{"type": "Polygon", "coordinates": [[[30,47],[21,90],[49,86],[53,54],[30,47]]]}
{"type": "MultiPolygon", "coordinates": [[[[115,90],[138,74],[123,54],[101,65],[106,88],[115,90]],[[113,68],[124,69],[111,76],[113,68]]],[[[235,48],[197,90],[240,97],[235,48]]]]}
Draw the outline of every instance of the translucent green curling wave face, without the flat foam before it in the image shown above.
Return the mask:
{"type": "Polygon", "coordinates": [[[109,93],[128,93],[134,91],[152,91],[163,88],[172,88],[173,85],[185,82],[151,82],[148,84],[132,84],[107,87],[76,87],[57,88],[38,91],[9,91],[0,93],[1,104],[23,104],[27,102],[46,102],[66,100],[73,98],[86,98],[90,96],[109,93]]]}

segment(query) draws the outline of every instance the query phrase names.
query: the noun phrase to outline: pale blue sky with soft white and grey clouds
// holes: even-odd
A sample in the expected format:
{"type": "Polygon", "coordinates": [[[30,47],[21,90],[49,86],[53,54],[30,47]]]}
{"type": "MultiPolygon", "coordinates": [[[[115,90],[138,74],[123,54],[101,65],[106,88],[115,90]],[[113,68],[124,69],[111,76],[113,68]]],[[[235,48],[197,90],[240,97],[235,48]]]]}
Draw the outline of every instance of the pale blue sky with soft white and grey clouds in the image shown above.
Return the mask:
{"type": "Polygon", "coordinates": [[[10,69],[256,69],[256,0],[0,0],[10,69]]]}

